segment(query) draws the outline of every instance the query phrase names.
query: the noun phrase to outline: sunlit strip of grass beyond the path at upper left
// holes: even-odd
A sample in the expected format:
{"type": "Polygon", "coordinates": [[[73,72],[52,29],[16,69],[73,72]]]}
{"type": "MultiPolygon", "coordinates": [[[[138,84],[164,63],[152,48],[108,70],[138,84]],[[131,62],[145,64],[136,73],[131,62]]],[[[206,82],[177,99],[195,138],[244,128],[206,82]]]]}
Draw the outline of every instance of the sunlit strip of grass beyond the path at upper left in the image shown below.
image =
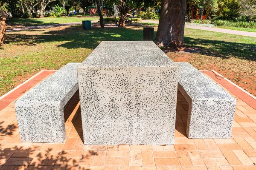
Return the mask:
{"type": "Polygon", "coordinates": [[[57,23],[74,23],[82,20],[99,20],[99,17],[45,17],[45,18],[7,18],[9,27],[40,26],[57,23]]]}

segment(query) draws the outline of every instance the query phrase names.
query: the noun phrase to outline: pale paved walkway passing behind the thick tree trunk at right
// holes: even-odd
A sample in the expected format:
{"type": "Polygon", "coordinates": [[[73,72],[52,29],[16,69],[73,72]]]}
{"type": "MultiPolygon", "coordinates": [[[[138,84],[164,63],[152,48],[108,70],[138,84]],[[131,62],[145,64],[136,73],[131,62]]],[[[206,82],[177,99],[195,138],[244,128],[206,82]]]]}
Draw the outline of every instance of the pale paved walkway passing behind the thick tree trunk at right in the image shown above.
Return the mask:
{"type": "MultiPolygon", "coordinates": [[[[142,20],[146,23],[157,23],[158,21],[154,20],[142,20]]],[[[212,28],[212,27],[203,27],[203,26],[191,26],[191,25],[185,25],[185,28],[193,28],[193,29],[201,29],[205,31],[215,31],[215,32],[221,32],[221,33],[227,33],[227,34],[236,34],[236,35],[243,35],[248,37],[256,37],[256,32],[247,32],[247,31],[237,31],[237,30],[231,30],[231,29],[223,29],[223,28],[212,28]]]]}

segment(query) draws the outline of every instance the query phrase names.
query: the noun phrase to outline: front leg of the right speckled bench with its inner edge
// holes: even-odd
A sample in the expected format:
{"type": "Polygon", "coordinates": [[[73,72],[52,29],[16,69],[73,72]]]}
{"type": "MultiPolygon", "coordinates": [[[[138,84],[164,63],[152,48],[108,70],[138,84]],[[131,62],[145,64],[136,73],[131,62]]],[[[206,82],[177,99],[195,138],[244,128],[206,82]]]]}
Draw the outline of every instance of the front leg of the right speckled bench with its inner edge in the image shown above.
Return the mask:
{"type": "Polygon", "coordinates": [[[230,138],[236,101],[194,100],[178,85],[189,103],[186,134],[192,139],[230,138]]]}

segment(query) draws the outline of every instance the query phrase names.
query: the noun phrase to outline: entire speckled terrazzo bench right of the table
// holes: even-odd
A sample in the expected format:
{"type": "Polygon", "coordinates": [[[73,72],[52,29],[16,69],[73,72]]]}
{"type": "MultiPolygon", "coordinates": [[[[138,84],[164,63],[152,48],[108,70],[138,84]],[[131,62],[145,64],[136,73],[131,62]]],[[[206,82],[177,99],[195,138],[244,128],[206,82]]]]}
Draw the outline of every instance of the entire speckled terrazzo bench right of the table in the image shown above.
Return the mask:
{"type": "Polygon", "coordinates": [[[188,138],[230,138],[236,99],[188,62],[176,63],[178,89],[189,103],[188,138]]]}

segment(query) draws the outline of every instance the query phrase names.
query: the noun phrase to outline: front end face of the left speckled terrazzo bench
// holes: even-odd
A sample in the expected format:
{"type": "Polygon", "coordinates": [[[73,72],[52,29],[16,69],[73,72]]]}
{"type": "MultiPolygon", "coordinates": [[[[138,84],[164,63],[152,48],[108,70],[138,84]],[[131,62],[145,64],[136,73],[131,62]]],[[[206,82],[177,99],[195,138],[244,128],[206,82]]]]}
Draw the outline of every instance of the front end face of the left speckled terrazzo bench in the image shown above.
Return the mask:
{"type": "Polygon", "coordinates": [[[15,108],[21,142],[65,142],[64,111],[60,105],[15,103],[15,108]]]}

